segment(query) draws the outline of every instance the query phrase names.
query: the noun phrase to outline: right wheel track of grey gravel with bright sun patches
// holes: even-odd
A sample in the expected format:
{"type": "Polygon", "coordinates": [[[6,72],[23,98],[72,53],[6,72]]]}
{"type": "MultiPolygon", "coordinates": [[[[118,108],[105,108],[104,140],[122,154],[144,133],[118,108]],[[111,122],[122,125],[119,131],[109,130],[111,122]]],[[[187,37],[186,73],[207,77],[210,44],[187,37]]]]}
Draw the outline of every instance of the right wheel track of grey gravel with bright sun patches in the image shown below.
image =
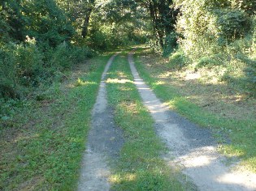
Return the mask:
{"type": "Polygon", "coordinates": [[[217,152],[210,131],[171,112],[140,78],[132,53],[128,55],[128,62],[142,100],[156,122],[158,134],[175,156],[175,159],[166,157],[167,163],[179,165],[200,190],[256,190],[256,174],[238,172],[224,165],[225,158],[217,152]]]}

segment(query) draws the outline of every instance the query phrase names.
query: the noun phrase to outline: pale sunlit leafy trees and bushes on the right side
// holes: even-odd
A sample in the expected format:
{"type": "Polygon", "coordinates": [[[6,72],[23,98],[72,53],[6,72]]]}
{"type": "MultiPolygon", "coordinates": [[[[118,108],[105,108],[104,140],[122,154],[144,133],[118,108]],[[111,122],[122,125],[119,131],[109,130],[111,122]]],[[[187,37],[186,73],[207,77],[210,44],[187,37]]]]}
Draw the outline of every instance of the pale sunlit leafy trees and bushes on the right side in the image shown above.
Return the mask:
{"type": "MultiPolygon", "coordinates": [[[[255,20],[251,1],[176,0],[180,8],[176,30],[179,50],[194,70],[207,68],[219,80],[233,83],[254,96],[255,20]]],[[[172,65],[180,66],[176,59],[172,65]]]]}

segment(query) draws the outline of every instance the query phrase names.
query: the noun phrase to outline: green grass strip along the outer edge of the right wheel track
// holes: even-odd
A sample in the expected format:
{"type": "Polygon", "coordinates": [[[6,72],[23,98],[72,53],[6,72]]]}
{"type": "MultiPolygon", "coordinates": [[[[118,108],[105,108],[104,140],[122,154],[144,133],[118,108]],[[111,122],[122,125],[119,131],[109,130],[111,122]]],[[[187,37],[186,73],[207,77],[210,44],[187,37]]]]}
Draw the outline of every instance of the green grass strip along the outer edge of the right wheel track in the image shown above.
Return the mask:
{"type": "MultiPolygon", "coordinates": [[[[145,57],[145,53],[138,51],[136,57],[136,66],[141,75],[141,78],[154,90],[154,93],[163,101],[167,102],[170,108],[180,112],[184,117],[194,121],[198,125],[213,128],[216,132],[216,137],[221,144],[221,151],[224,154],[232,157],[238,156],[241,159],[243,167],[256,172],[256,121],[255,118],[250,117],[223,117],[221,112],[210,112],[200,107],[198,104],[188,99],[188,96],[184,96],[182,88],[179,86],[179,81],[173,83],[173,73],[168,74],[167,79],[161,78],[161,75],[155,75],[157,70],[158,74],[167,72],[166,64],[162,63],[162,66],[157,64],[148,65],[148,62],[141,62],[141,57],[145,57]],[[177,83],[178,82],[178,83],[177,83]],[[222,138],[223,134],[228,135],[231,139],[231,143],[225,142],[222,138]]],[[[160,63],[161,64],[161,63],[160,63]]],[[[197,86],[202,86],[198,83],[197,86]]],[[[193,91],[197,91],[197,87],[185,87],[193,88],[193,91]]],[[[212,92],[209,92],[209,94],[212,92]]],[[[198,96],[199,99],[200,96],[198,96]]],[[[242,116],[243,113],[240,113],[242,116]]]]}

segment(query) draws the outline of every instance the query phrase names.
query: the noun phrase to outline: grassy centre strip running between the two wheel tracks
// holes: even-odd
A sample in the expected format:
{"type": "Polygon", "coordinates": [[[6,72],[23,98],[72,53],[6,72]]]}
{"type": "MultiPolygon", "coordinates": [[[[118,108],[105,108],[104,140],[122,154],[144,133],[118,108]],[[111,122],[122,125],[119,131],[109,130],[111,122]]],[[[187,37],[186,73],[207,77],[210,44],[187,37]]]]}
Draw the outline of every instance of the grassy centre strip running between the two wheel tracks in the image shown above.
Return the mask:
{"type": "Polygon", "coordinates": [[[127,57],[119,56],[107,79],[107,93],[115,122],[124,130],[125,143],[111,176],[113,190],[182,190],[174,172],[160,155],[165,147],[154,131],[154,121],[143,106],[127,57]]]}

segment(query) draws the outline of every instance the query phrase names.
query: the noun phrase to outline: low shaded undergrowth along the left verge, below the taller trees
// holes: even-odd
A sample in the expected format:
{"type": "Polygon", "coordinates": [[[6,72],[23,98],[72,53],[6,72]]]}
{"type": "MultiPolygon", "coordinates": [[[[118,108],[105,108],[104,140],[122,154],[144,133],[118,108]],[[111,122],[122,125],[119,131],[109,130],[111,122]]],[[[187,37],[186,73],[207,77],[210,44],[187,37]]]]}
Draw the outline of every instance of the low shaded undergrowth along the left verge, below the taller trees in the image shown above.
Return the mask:
{"type": "Polygon", "coordinates": [[[0,96],[24,97],[29,89],[54,82],[64,70],[92,56],[87,47],[66,43],[42,51],[29,37],[20,45],[4,45],[0,51],[0,96]]]}

